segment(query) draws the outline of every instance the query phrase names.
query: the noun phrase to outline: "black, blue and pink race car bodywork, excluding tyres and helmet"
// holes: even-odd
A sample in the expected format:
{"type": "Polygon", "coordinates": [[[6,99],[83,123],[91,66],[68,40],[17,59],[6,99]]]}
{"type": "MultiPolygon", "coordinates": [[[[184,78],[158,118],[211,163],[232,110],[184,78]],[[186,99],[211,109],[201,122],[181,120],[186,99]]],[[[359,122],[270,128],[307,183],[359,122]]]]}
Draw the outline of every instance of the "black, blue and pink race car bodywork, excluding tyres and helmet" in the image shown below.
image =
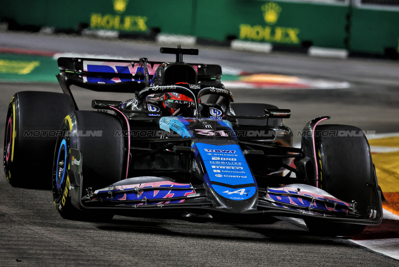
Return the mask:
{"type": "MultiPolygon", "coordinates": [[[[105,189],[95,186],[83,188],[86,185],[83,164],[72,166],[67,174],[71,203],[75,207],[84,211],[122,214],[187,211],[231,216],[279,215],[359,224],[381,222],[381,192],[375,171],[370,187],[372,199],[366,213],[356,210],[356,201],[336,199],[318,186],[314,130],[319,122],[329,117],[309,122],[304,130],[310,134],[302,137],[302,147],[293,147],[292,132],[282,122],[283,118],[290,117],[290,110],[267,104],[234,103],[233,94],[220,82],[220,66],[182,62],[183,54],[198,54],[198,50],[161,48],[161,52],[176,54],[176,62],[149,62],[146,58],[112,62],[86,58],[58,59],[60,74],[57,79],[63,92],[69,96],[72,96],[70,85],[95,91],[135,93],[135,98],[125,102],[93,100],[94,109],[113,111],[120,120],[124,130],[120,136],[124,139],[123,169],[126,172],[122,172],[119,182],[105,189]],[[124,70],[134,72],[120,73],[117,69],[115,72],[93,72],[87,69],[85,62],[109,66],[117,62],[126,67],[124,70]],[[118,82],[104,82],[110,80],[118,82]],[[162,100],[148,101],[148,96],[167,92],[192,98],[195,104],[191,116],[163,116],[162,100]],[[205,96],[208,96],[207,101],[199,104],[205,96]],[[149,110],[149,104],[152,110],[149,110]],[[217,146],[239,147],[249,167],[246,174],[251,174],[252,182],[222,183],[209,178],[210,167],[206,165],[201,147],[213,147],[205,148],[207,151],[215,150],[217,146]],[[292,160],[294,167],[290,164],[292,160]],[[286,175],[283,175],[284,170],[288,171],[286,175]],[[292,177],[293,173],[296,177],[292,177]],[[143,192],[170,188],[134,186],[126,189],[129,184],[154,182],[145,177],[159,177],[159,181],[168,181],[175,186],[181,184],[180,189],[174,190],[189,190],[188,195],[166,196],[169,201],[165,201],[165,197],[150,199],[140,196],[143,192]],[[125,186],[123,191],[120,191],[121,186],[125,186]],[[221,190],[215,189],[217,186],[230,188],[226,192],[237,193],[237,196],[252,187],[255,192],[246,199],[228,199],[221,195],[221,190]],[[293,189],[295,191],[290,191],[293,189]],[[119,198],[121,194],[125,199],[119,198]],[[129,194],[137,197],[127,199],[129,194]]],[[[75,109],[78,109],[76,103],[75,109]]],[[[71,149],[72,155],[78,161],[85,161],[79,150],[71,149]]]]}

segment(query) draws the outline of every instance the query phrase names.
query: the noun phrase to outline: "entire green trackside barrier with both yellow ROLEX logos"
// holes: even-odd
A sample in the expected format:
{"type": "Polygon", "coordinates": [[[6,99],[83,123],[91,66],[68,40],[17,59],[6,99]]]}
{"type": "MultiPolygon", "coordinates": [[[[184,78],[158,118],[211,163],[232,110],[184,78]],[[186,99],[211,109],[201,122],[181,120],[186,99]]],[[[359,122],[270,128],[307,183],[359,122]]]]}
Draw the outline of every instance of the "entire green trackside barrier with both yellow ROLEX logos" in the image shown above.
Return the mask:
{"type": "Polygon", "coordinates": [[[0,19],[36,28],[78,31],[88,26],[122,34],[154,36],[160,31],[222,42],[236,38],[274,46],[349,47],[352,52],[374,54],[399,51],[399,9],[351,9],[344,2],[13,0],[0,1],[0,19]]]}

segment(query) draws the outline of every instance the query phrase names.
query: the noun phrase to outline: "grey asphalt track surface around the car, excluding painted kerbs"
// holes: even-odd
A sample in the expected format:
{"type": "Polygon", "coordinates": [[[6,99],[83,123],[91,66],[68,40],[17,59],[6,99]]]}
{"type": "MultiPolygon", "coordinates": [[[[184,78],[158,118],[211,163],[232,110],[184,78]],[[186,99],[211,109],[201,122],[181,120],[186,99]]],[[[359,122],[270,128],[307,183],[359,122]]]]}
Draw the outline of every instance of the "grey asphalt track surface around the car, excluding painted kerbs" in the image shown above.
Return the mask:
{"type": "MultiPolygon", "coordinates": [[[[0,33],[0,47],[173,60],[171,55],[158,54],[157,44],[132,41],[0,33]]],[[[290,108],[292,118],[285,122],[294,133],[324,115],[332,117],[329,123],[352,124],[377,133],[399,132],[397,61],[198,48],[198,59],[190,57],[186,62],[351,83],[342,90],[234,90],[236,102],[290,108]]],[[[51,83],[0,84],[0,118],[4,120],[0,126],[5,126],[10,98],[23,90],[61,92],[51,83]]],[[[93,98],[130,98],[79,88],[73,88],[73,93],[81,109],[89,109],[93,98]]],[[[40,164],[40,156],[32,160],[40,164]]],[[[34,175],[32,171],[32,179],[34,175]]],[[[272,217],[262,224],[122,216],[110,223],[69,221],[55,211],[51,191],[14,188],[3,173],[0,176],[1,266],[399,266],[399,261],[344,238],[314,236],[305,226],[284,218],[272,217]]]]}

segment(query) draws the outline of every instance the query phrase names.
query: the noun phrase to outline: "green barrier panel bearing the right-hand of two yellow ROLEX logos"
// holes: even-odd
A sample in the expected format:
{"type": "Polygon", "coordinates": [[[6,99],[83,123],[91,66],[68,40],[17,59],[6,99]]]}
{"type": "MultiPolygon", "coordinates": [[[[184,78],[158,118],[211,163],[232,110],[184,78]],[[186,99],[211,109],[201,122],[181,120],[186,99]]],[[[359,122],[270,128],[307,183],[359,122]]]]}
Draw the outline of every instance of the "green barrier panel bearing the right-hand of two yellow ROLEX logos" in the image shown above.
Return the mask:
{"type": "Polygon", "coordinates": [[[259,0],[201,0],[196,36],[344,48],[348,5],[259,0]],[[212,8],[209,8],[209,7],[212,8]]]}

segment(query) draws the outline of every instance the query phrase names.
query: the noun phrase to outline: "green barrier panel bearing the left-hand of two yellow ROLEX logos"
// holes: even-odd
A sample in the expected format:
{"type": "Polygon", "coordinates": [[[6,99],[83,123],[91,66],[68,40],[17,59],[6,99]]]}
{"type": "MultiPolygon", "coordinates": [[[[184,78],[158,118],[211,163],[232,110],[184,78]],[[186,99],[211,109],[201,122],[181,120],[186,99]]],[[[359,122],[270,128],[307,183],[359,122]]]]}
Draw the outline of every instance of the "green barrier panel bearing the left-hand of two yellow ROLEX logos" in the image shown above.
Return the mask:
{"type": "MultiPolygon", "coordinates": [[[[0,1],[0,17],[20,25],[148,33],[159,28],[171,34],[193,35],[194,0],[28,0],[0,1]]],[[[194,6],[195,7],[195,6],[194,6]]]]}

